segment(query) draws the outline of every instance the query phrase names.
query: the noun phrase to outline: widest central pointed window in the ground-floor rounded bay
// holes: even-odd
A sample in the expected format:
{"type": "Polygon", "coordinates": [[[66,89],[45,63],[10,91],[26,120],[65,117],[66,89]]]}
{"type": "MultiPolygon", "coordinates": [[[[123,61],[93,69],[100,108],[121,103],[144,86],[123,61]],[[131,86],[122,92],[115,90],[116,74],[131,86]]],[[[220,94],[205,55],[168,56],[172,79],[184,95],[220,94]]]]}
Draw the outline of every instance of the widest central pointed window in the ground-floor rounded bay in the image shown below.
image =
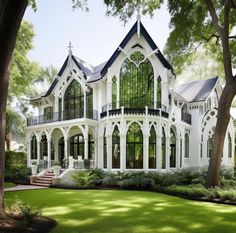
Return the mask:
{"type": "Polygon", "coordinates": [[[136,122],[130,125],[127,132],[126,168],[143,168],[143,133],[136,122]]]}

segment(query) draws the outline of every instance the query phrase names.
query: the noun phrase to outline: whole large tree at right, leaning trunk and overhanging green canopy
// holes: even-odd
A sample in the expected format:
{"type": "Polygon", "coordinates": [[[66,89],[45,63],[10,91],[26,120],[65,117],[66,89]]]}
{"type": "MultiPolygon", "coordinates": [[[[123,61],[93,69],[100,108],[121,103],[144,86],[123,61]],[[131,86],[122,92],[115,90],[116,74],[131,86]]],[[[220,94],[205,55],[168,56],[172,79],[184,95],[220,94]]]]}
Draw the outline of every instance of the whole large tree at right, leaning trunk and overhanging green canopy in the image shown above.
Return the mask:
{"type": "MultiPolygon", "coordinates": [[[[76,1],[74,1],[76,2],[76,1]]],[[[127,21],[134,13],[153,14],[163,0],[104,0],[107,13],[119,15],[127,21]]],[[[225,86],[218,107],[218,118],[213,136],[213,154],[210,159],[207,187],[219,186],[221,155],[224,138],[230,120],[230,106],[236,94],[236,77],[232,67],[236,66],[235,0],[171,0],[168,1],[171,16],[165,52],[171,63],[181,71],[183,64],[191,59],[197,47],[203,45],[212,57],[224,66],[225,86]]]]}

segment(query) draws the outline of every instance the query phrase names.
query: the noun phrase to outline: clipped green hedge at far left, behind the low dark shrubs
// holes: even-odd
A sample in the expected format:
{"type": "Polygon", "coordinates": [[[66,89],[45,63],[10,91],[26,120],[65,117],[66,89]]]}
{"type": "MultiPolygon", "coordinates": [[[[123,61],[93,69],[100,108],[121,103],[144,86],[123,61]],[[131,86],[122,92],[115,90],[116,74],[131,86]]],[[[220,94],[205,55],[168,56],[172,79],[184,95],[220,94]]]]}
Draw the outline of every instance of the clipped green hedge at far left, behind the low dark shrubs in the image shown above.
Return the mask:
{"type": "Polygon", "coordinates": [[[10,168],[11,165],[15,164],[26,164],[27,162],[27,155],[24,152],[6,151],[5,155],[6,168],[10,168]]]}

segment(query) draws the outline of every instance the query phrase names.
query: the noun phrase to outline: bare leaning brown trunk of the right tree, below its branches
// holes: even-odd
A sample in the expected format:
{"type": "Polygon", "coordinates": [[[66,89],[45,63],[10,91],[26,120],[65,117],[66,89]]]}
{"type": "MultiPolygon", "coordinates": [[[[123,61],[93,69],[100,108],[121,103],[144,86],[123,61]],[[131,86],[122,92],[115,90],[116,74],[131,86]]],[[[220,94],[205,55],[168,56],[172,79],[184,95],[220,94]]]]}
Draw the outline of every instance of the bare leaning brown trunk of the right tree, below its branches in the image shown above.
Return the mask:
{"type": "Polygon", "coordinates": [[[213,153],[210,159],[206,186],[220,186],[221,159],[223,156],[224,140],[230,120],[230,107],[236,94],[236,82],[226,84],[220,97],[218,117],[213,135],[213,153]]]}

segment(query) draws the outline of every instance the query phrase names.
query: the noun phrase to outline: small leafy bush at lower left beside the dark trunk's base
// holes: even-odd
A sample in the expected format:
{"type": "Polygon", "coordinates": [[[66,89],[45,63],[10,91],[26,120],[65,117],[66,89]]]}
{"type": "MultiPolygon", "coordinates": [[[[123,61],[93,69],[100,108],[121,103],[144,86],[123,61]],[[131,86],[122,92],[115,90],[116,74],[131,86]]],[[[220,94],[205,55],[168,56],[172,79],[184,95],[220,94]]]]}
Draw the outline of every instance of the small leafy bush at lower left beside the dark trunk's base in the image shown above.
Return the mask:
{"type": "Polygon", "coordinates": [[[6,206],[6,211],[10,215],[23,217],[27,224],[30,224],[35,217],[42,216],[42,208],[33,208],[30,204],[16,199],[6,206]]]}

